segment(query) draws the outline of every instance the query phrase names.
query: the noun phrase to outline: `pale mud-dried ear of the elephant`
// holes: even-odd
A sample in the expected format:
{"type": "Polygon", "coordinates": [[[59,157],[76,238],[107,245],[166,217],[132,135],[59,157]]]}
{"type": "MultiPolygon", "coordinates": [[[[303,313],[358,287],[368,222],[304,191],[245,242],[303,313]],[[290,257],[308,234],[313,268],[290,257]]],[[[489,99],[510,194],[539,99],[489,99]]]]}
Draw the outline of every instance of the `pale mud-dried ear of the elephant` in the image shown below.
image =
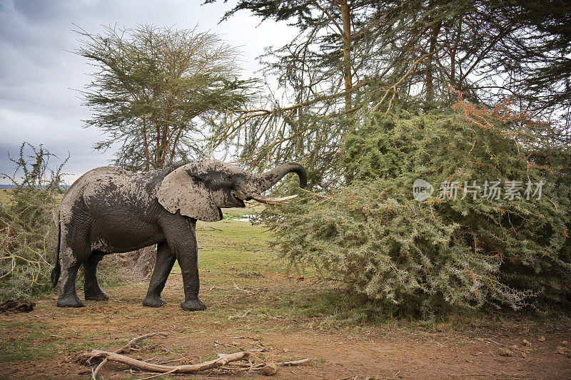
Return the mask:
{"type": "Polygon", "coordinates": [[[158,202],[173,214],[181,210],[181,215],[203,222],[222,219],[222,211],[214,203],[196,164],[186,164],[169,173],[158,188],[157,197],[158,202]]]}

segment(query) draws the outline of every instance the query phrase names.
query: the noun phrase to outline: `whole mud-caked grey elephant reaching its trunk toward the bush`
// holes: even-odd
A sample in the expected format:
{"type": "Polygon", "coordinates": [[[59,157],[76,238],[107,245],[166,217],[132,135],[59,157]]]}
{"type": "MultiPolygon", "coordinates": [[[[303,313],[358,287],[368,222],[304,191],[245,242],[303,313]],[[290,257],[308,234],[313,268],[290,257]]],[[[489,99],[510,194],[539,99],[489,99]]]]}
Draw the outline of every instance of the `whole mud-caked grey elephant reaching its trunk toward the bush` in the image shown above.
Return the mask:
{"type": "Polygon", "coordinates": [[[205,309],[198,298],[196,220],[221,220],[221,208],[245,207],[244,200],[259,198],[288,173],[297,173],[305,186],[307,175],[298,163],[261,174],[217,160],[177,163],[147,173],[111,166],[89,171],[71,185],[59,207],[59,245],[51,272],[54,287],[61,274],[57,305],[84,306],[76,293],[81,265],[85,299],[108,299],[97,282],[101,258],[156,244],[156,265],[143,305],[165,304],[161,292],[178,260],[185,296],[181,307],[205,309]]]}

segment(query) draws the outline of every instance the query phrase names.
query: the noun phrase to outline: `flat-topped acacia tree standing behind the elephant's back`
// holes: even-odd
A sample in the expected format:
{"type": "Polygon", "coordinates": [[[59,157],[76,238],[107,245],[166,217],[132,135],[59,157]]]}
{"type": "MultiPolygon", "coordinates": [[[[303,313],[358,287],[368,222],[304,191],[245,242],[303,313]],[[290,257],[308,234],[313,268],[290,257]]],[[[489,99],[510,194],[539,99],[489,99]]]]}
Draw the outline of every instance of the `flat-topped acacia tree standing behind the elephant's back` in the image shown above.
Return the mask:
{"type": "Polygon", "coordinates": [[[201,156],[201,119],[248,98],[238,52],[216,34],[150,25],[78,33],[76,53],[96,68],[83,91],[93,111],[86,125],[105,133],[97,150],[122,144],[114,163],[123,168],[151,170],[201,156]]]}

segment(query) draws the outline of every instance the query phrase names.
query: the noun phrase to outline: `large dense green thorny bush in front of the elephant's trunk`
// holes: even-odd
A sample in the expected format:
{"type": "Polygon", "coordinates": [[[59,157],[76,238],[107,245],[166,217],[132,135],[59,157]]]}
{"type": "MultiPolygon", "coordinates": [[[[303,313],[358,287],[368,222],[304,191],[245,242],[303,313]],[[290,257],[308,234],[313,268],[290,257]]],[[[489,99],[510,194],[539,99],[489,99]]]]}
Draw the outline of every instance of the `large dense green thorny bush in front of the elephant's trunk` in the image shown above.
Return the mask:
{"type": "Polygon", "coordinates": [[[347,186],[268,207],[279,255],[408,315],[568,301],[570,154],[514,133],[514,117],[460,108],[364,118],[340,153],[347,186]],[[424,202],[417,178],[435,187],[424,202]],[[441,183],[473,180],[522,181],[522,199],[438,198],[441,183]],[[544,181],[540,199],[525,199],[528,180],[544,181]]]}

